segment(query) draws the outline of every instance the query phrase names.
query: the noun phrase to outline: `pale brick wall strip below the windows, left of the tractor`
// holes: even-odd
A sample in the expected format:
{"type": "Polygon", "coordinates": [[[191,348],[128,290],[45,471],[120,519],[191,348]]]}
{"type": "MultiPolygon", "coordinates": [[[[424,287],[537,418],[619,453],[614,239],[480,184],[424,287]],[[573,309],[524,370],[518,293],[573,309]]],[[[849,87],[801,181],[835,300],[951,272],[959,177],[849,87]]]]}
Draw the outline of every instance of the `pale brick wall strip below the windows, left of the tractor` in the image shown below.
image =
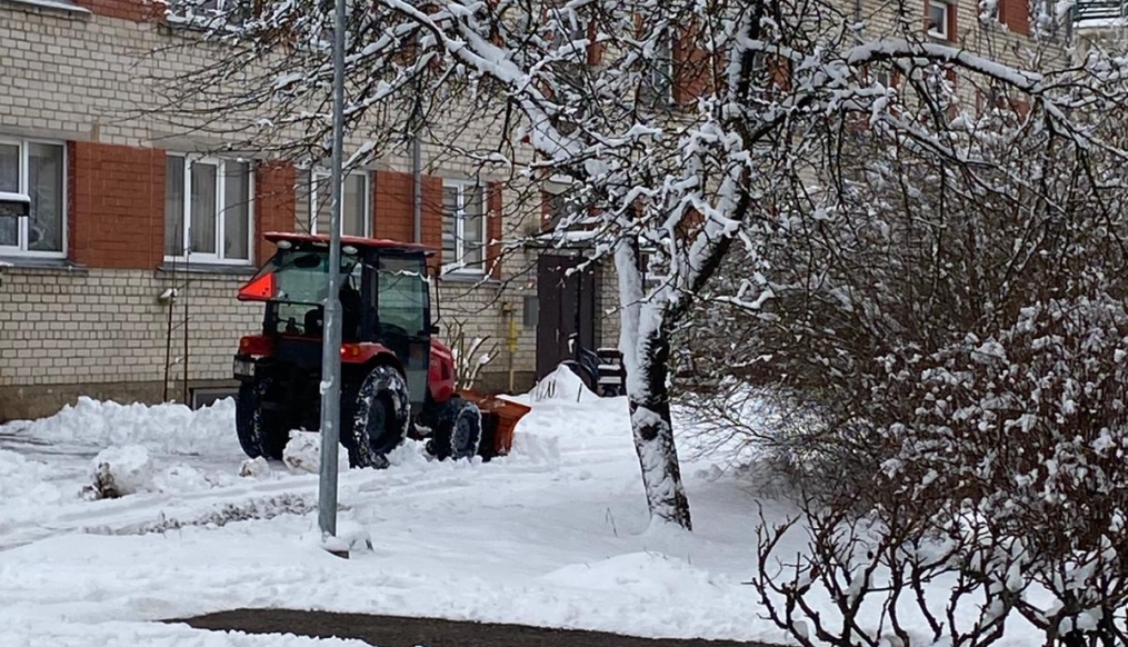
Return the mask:
{"type": "Polygon", "coordinates": [[[185,278],[152,270],[3,269],[0,420],[50,413],[37,409],[36,397],[52,388],[161,384],[168,306],[158,297],[173,287],[184,297],[173,313],[173,382],[184,367],[185,330],[190,381],[230,379],[231,355],[239,336],[261,326],[261,306],[232,298],[245,277],[191,274],[187,285],[185,278]]]}

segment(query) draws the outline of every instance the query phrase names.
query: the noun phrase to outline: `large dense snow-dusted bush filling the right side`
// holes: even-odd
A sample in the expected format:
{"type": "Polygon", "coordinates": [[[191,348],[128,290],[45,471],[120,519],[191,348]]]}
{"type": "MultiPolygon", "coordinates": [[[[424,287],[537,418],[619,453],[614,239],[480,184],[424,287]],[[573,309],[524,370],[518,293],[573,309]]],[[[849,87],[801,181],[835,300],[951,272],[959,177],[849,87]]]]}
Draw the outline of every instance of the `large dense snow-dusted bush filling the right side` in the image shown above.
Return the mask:
{"type": "MultiPolygon", "coordinates": [[[[1118,142],[1122,110],[1075,119],[1118,142]]],[[[744,386],[809,414],[784,429],[811,541],[778,556],[764,528],[756,585],[803,645],[984,646],[1014,617],[1122,645],[1128,177],[1037,108],[962,119],[975,173],[879,131],[843,141],[861,173],[781,196],[744,386]]]]}

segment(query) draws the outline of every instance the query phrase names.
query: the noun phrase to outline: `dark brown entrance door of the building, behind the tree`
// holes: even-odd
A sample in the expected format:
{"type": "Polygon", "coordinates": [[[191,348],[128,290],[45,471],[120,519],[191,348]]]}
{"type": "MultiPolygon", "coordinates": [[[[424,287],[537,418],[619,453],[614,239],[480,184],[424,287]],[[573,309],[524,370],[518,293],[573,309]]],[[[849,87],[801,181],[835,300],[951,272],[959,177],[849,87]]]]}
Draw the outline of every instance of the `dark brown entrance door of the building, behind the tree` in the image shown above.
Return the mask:
{"type": "Polygon", "coordinates": [[[569,270],[582,257],[540,256],[537,263],[537,379],[575,357],[569,341],[596,350],[596,268],[569,270]]]}

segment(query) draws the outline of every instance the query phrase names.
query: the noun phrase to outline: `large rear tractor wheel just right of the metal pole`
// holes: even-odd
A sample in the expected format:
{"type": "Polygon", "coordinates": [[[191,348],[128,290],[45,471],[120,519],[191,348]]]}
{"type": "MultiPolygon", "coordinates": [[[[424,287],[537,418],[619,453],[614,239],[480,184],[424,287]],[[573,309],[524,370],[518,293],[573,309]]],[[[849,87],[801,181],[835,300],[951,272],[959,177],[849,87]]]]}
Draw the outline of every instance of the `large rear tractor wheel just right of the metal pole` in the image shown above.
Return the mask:
{"type": "Polygon", "coordinates": [[[407,436],[411,403],[407,383],[390,366],[377,366],[364,378],[356,396],[356,418],[349,447],[353,467],[386,467],[388,452],[407,436]]]}

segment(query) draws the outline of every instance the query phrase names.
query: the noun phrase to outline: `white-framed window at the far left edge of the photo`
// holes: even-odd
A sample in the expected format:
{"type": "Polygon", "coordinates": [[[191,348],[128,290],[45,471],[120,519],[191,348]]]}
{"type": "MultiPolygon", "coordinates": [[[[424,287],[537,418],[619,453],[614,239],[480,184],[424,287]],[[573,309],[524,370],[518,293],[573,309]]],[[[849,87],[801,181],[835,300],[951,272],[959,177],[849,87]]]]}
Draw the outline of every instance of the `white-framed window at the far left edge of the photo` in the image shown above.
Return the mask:
{"type": "Polygon", "coordinates": [[[61,143],[0,138],[0,254],[65,254],[65,164],[61,143]]]}

